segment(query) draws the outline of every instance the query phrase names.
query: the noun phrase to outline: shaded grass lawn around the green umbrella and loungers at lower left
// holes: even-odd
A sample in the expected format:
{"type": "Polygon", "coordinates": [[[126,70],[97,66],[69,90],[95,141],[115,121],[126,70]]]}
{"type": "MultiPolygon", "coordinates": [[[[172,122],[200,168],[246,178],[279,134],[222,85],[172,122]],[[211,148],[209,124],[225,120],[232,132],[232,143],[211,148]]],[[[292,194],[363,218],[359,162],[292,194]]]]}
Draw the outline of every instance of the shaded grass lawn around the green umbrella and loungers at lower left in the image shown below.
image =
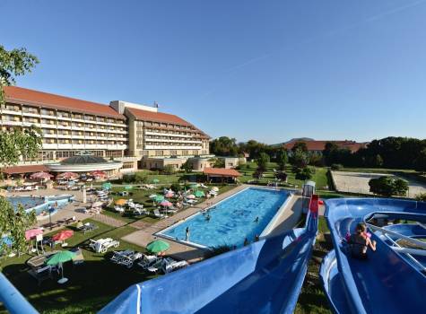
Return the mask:
{"type": "MultiPolygon", "coordinates": [[[[123,226],[116,229],[90,219],[84,222],[95,223],[99,229],[85,235],[81,231],[74,231],[74,236],[67,240],[69,247],[81,247],[84,264],[72,266],[71,263],[65,263],[64,273],[70,279],[65,285],[58,285],[56,281],[48,280],[38,286],[35,279],[26,272],[29,268],[24,263],[31,257],[30,255],[1,261],[0,266],[3,268],[4,275],[40,313],[95,313],[117,297],[120,292],[126,290],[129,285],[155,277],[143,272],[138,266],[127,269],[109,262],[111,249],[105,255],[87,249],[88,239],[106,237],[119,239],[135,231],[135,228],[123,226]]],[[[67,229],[74,228],[71,226],[67,229]]],[[[119,249],[144,251],[143,248],[123,240],[120,240],[119,249]]]]}

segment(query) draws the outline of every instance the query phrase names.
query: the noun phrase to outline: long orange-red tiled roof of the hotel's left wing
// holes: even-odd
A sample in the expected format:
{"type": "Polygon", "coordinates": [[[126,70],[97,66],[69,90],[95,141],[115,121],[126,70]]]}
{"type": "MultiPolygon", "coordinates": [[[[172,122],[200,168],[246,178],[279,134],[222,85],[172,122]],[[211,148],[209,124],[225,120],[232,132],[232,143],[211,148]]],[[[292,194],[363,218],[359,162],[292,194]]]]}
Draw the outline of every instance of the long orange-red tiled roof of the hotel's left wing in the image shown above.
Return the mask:
{"type": "Polygon", "coordinates": [[[108,105],[86,100],[77,100],[48,92],[38,92],[17,86],[5,86],[4,93],[6,95],[5,100],[8,102],[89,113],[92,115],[107,116],[111,118],[126,118],[108,105]]]}

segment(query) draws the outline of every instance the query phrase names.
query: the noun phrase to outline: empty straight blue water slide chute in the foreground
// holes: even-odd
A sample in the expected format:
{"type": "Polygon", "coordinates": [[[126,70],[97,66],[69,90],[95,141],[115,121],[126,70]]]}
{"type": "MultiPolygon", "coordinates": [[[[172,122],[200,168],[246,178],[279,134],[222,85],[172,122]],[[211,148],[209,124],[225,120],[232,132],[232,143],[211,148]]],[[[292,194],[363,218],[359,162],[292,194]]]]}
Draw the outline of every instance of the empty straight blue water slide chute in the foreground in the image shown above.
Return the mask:
{"type": "Polygon", "coordinates": [[[100,313],[292,313],[317,235],[304,228],[130,286],[100,313]]]}

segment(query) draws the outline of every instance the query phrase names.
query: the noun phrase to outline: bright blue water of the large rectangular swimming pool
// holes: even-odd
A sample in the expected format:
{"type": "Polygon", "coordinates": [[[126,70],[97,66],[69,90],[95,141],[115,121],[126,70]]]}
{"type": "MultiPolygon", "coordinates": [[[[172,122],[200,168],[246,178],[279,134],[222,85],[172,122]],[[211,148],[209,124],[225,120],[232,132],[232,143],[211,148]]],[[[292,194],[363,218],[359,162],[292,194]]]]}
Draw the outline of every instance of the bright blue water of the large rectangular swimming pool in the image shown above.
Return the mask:
{"type": "Polygon", "coordinates": [[[247,188],[214,205],[207,214],[199,213],[178,222],[159,234],[175,240],[185,240],[189,227],[189,241],[214,248],[221,245],[241,247],[247,238],[253,241],[283,205],[290,193],[283,190],[247,188]],[[258,222],[255,222],[258,217],[258,222]]]}

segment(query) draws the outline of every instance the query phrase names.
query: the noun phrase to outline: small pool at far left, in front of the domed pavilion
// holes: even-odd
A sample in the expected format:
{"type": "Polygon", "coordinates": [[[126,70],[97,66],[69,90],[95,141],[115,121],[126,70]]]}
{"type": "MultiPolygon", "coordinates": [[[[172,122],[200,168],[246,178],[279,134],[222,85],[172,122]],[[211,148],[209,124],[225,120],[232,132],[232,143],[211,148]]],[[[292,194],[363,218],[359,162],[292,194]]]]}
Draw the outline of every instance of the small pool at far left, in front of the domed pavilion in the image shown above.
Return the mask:
{"type": "MultiPolygon", "coordinates": [[[[36,214],[39,215],[43,212],[47,212],[49,206],[57,205],[58,210],[65,205],[72,203],[74,201],[74,196],[9,196],[7,197],[7,200],[14,208],[18,208],[18,205],[21,204],[27,212],[35,210],[36,214]]],[[[52,214],[55,214],[57,210],[52,214]]]]}

